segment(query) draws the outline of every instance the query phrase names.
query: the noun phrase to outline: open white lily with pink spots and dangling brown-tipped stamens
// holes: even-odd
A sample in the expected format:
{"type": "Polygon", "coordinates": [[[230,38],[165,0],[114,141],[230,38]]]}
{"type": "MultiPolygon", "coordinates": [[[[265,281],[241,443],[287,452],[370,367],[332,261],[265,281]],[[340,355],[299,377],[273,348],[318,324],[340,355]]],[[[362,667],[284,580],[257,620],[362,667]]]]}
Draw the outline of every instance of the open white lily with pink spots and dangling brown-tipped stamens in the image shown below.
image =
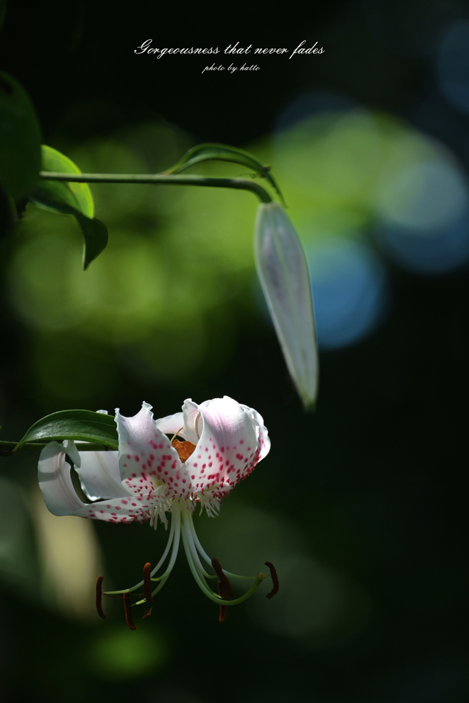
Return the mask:
{"type": "MultiPolygon", "coordinates": [[[[167,546],[154,569],[145,565],[143,581],[123,591],[105,595],[124,598],[127,623],[131,621],[129,593],[141,589],[145,597],[134,605],[153,602],[153,596],[165,585],[176,560],[182,539],[189,567],[195,581],[210,600],[220,606],[220,619],[226,616],[226,606],[236,605],[248,598],[265,578],[237,576],[221,569],[211,559],[198,540],[193,524],[193,512],[215,517],[221,498],[245,479],[255,465],[269,453],[270,440],[261,415],[248,406],[240,405],[228,396],[205,401],[198,405],[191,399],[184,401],[182,412],[155,420],[152,408],[143,403],[141,411],[125,418],[119,409],[115,422],[119,436],[119,451],[82,451],[72,441],[58,444],[53,441],[41,451],[39,458],[39,486],[47,508],[54,515],[78,515],[106,522],[149,522],[156,529],[158,520],[171,527],[167,546]],[[169,439],[167,434],[174,435],[169,439]],[[182,441],[175,439],[176,435],[182,441]],[[70,476],[68,455],[75,464],[84,494],[90,503],[77,495],[70,476]],[[162,574],[167,558],[169,561],[162,574]],[[215,574],[207,572],[212,567],[215,574]],[[219,579],[219,593],[207,585],[207,579],[219,579]],[[229,579],[253,579],[250,590],[233,600],[229,579]],[[153,589],[154,583],[158,585],[153,589]],[[223,617],[222,617],[223,615],[223,617]]],[[[103,412],[103,411],[101,411],[103,412]]],[[[271,567],[270,562],[266,562],[271,567]]],[[[274,591],[278,590],[275,569],[271,568],[274,591]]],[[[98,579],[98,613],[101,609],[101,581],[98,579]]],[[[274,592],[269,596],[274,595],[274,592]]]]}

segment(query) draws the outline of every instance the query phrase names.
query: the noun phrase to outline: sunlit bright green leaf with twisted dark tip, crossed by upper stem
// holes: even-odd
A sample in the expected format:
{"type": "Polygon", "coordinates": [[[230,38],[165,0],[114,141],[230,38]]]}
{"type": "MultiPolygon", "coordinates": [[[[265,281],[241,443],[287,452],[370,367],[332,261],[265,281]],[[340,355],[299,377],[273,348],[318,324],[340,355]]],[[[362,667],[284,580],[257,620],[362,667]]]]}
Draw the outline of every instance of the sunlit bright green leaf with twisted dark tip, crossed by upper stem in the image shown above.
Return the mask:
{"type": "MultiPolygon", "coordinates": [[[[56,149],[41,146],[41,170],[80,174],[77,165],[56,149]]],[[[108,229],[94,217],[93,196],[87,183],[68,183],[41,179],[30,195],[30,202],[49,212],[73,215],[84,238],[83,268],[88,270],[108,244],[108,229]]]]}

